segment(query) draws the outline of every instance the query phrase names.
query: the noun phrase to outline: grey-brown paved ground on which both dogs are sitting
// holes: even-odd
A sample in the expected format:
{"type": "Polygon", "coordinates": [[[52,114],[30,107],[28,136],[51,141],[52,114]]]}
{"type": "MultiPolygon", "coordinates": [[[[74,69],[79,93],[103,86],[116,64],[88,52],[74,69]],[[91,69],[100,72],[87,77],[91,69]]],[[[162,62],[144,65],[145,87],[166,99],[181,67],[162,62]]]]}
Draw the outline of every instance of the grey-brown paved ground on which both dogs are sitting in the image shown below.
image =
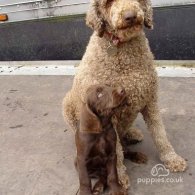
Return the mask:
{"type": "MultiPolygon", "coordinates": [[[[75,195],[78,177],[73,166],[74,135],[67,130],[61,102],[72,77],[0,77],[0,195],[75,195]]],[[[149,157],[147,165],[126,161],[135,195],[195,195],[195,79],[161,78],[160,106],[175,149],[188,159],[179,183],[138,183],[157,178],[151,169],[160,163],[141,119],[136,126],[145,134],[133,146],[149,157]]]]}

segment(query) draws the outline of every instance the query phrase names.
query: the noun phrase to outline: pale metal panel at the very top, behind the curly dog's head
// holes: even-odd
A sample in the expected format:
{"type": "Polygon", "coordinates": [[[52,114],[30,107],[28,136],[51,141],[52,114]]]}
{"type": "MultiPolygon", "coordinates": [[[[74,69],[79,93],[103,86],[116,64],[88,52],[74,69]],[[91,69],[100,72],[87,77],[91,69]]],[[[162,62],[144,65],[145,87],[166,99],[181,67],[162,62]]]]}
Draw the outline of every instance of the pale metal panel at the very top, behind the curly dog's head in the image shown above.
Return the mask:
{"type": "MultiPolygon", "coordinates": [[[[7,22],[17,22],[84,14],[88,4],[89,0],[1,0],[0,13],[8,14],[7,22]]],[[[195,0],[152,0],[152,4],[154,7],[195,4],[195,0]]]]}

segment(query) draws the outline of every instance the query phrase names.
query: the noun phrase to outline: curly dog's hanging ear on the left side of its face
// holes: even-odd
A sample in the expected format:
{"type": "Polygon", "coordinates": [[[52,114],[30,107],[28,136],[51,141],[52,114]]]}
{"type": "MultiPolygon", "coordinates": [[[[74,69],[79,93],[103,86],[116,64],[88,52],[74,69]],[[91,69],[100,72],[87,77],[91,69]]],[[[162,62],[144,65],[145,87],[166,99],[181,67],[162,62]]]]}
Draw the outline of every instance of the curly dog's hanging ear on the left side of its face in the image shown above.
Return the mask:
{"type": "Polygon", "coordinates": [[[105,32],[105,22],[99,12],[99,0],[91,0],[89,10],[86,16],[86,24],[103,37],[105,32]]]}

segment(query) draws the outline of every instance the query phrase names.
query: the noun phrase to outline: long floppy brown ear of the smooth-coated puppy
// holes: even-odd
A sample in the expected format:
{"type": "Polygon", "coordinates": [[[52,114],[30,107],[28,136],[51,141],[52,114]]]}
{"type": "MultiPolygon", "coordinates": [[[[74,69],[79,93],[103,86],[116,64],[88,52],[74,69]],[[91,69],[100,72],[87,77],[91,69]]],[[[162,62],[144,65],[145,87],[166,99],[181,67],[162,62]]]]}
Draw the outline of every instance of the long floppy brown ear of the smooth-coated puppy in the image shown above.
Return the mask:
{"type": "Polygon", "coordinates": [[[88,103],[83,104],[81,108],[80,130],[88,133],[100,133],[102,131],[101,123],[88,103]]]}

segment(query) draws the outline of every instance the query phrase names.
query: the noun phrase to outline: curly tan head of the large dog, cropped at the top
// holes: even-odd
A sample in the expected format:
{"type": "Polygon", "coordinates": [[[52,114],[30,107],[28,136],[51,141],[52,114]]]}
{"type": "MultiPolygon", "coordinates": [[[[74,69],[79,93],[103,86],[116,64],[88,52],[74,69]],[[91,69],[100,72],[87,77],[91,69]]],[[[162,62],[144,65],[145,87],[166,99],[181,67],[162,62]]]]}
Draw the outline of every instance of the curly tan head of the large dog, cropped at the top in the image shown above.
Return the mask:
{"type": "Polygon", "coordinates": [[[86,22],[102,37],[114,32],[121,41],[136,37],[143,30],[153,28],[151,0],[91,0],[86,22]]]}

